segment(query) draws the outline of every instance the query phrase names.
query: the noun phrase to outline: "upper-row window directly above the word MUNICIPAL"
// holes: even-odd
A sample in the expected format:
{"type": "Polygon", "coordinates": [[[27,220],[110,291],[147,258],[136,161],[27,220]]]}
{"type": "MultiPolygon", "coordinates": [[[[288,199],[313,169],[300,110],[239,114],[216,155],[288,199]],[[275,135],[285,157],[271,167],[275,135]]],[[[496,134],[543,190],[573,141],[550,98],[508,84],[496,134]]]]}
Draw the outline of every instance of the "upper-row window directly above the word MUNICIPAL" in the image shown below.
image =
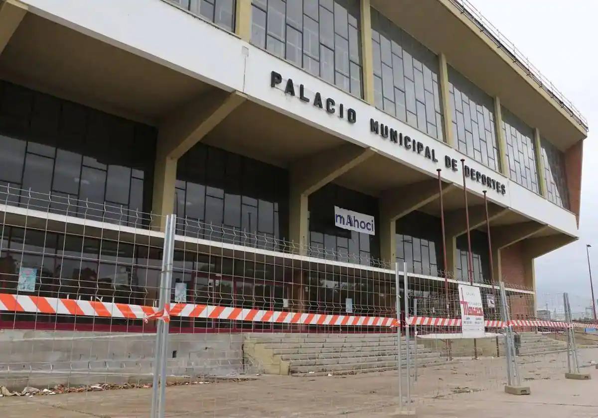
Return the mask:
{"type": "Polygon", "coordinates": [[[438,57],[376,9],[371,16],[376,107],[444,140],[438,57]]]}

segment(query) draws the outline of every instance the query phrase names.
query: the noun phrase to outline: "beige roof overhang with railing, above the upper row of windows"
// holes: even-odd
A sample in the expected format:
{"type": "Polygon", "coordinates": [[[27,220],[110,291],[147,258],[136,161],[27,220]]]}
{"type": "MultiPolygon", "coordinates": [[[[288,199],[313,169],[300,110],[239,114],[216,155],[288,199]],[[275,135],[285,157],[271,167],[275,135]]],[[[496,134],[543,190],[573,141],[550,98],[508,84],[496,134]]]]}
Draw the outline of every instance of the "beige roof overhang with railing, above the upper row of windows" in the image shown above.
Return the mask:
{"type": "Polygon", "coordinates": [[[430,50],[446,54],[450,66],[490,96],[499,96],[502,105],[528,125],[538,127],[542,136],[560,149],[566,150],[585,139],[584,122],[573,116],[565,103],[549,93],[553,90],[545,88],[532,72],[524,69],[457,3],[453,0],[371,0],[372,7],[430,50]]]}

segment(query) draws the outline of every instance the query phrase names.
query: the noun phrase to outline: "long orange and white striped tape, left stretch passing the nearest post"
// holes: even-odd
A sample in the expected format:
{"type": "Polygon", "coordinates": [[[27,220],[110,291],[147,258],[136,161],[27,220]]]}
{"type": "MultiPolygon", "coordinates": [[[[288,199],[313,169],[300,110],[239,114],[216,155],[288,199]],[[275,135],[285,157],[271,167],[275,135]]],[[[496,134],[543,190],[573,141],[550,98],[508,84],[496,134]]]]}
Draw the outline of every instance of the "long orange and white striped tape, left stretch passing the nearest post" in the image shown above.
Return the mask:
{"type": "Polygon", "coordinates": [[[130,305],[128,303],[3,293],[0,293],[0,311],[101,316],[103,318],[144,319],[145,321],[149,319],[169,321],[172,316],[182,316],[187,318],[229,319],[233,321],[276,322],[298,325],[396,327],[398,324],[396,318],[383,316],[307,314],[304,312],[269,311],[230,306],[193,305],[191,303],[169,304],[161,311],[151,306],[130,305]]]}

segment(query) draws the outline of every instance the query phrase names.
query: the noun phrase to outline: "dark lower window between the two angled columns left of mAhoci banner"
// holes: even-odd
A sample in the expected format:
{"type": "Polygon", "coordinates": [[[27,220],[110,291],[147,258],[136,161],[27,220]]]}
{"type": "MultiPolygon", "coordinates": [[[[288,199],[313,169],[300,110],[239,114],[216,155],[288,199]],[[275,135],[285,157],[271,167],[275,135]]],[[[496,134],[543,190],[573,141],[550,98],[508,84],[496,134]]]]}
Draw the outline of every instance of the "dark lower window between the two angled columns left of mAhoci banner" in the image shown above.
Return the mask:
{"type": "Polygon", "coordinates": [[[206,223],[218,232],[212,233],[212,239],[237,240],[245,245],[264,245],[264,235],[285,239],[288,229],[286,170],[198,143],[179,159],[176,177],[175,205],[181,217],[179,232],[197,236],[204,228],[201,224],[206,223]],[[213,159],[213,162],[198,167],[197,155],[209,155],[208,161],[213,159]],[[213,164],[227,168],[212,170],[213,164]],[[208,175],[207,171],[212,172],[208,175]],[[195,226],[182,226],[185,219],[194,220],[195,226]],[[198,221],[202,230],[197,229],[198,221]],[[222,226],[225,229],[220,233],[222,226]],[[239,231],[258,234],[261,244],[255,236],[239,231]]]}

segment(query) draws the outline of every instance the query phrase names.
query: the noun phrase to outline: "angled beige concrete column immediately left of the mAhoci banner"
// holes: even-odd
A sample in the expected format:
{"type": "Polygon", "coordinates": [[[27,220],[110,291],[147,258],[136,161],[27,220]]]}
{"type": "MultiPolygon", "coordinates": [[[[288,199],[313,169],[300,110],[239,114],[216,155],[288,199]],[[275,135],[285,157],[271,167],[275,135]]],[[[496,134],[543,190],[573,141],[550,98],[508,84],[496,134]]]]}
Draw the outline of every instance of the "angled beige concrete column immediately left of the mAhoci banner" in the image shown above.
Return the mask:
{"type": "Polygon", "coordinates": [[[299,254],[309,244],[309,195],[376,153],[352,144],[319,152],[295,161],[289,167],[289,236],[299,254]],[[306,170],[309,167],[309,170],[306,170]]]}

